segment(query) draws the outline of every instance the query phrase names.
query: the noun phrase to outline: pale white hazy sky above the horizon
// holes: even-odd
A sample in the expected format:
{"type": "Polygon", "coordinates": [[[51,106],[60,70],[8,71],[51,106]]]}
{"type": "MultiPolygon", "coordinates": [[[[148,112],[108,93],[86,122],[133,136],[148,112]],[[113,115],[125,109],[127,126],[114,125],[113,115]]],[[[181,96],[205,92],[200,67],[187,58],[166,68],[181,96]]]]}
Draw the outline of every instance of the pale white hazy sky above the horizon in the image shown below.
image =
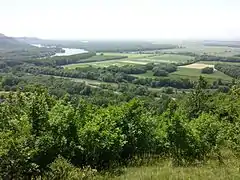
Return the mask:
{"type": "Polygon", "coordinates": [[[0,33],[54,39],[240,39],[240,0],[0,0],[0,33]]]}

